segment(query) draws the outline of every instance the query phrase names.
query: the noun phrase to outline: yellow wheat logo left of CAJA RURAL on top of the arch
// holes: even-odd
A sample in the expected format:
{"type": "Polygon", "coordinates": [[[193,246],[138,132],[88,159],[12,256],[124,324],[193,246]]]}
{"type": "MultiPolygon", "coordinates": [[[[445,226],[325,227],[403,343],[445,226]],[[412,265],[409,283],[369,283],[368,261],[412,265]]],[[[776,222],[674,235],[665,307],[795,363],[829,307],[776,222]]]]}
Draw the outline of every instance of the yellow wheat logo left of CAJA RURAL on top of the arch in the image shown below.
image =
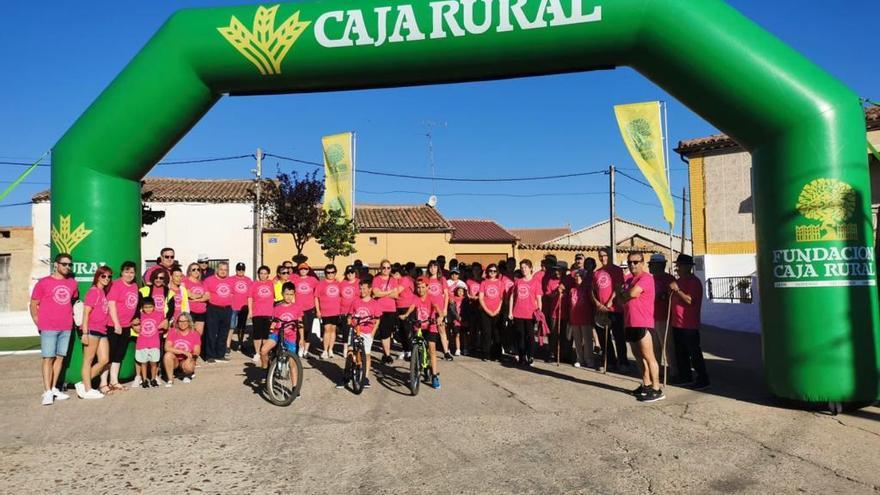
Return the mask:
{"type": "Polygon", "coordinates": [[[300,21],[299,11],[296,11],[275,29],[278,7],[280,5],[257,7],[252,30],[248,30],[235,16],[229,20],[229,26],[217,28],[226,41],[264,76],[281,74],[281,62],[305,28],[311,24],[311,21],[300,21]]]}

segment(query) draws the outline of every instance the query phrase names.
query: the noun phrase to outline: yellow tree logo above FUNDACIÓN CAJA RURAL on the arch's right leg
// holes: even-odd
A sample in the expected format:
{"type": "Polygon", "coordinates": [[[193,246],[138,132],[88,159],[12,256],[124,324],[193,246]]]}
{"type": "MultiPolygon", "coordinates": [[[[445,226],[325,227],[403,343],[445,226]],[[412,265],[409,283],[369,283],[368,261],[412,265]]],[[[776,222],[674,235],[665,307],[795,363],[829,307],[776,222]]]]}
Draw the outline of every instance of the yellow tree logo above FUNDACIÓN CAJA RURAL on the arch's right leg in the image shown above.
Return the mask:
{"type": "Polygon", "coordinates": [[[795,227],[795,238],[798,242],[856,240],[856,224],[846,223],[855,209],[852,186],[837,179],[813,180],[801,190],[797,210],[804,218],[821,223],[795,227]]]}

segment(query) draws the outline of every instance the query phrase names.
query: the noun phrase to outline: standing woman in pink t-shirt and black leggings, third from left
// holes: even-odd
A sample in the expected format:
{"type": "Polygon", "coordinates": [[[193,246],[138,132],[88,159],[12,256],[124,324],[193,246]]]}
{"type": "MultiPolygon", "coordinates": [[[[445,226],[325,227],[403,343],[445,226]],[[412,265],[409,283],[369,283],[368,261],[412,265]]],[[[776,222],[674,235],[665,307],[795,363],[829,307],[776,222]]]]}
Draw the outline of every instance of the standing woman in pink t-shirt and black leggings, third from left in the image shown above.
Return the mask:
{"type": "Polygon", "coordinates": [[[128,352],[131,341],[131,321],[137,312],[138,286],[135,283],[135,263],[125,261],[119,267],[119,278],[110,285],[107,293],[107,337],[110,341],[110,388],[125,390],[119,383],[119,367],[128,352]]]}

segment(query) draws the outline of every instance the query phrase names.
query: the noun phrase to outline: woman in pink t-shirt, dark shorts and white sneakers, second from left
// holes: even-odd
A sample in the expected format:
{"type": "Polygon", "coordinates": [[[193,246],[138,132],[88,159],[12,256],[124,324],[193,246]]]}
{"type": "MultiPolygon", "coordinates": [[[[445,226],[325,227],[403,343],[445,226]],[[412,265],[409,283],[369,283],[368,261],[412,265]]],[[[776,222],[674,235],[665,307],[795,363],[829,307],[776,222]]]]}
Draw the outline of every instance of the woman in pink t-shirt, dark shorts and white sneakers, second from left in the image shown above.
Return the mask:
{"type": "Polygon", "coordinates": [[[103,399],[110,392],[110,371],[107,369],[110,364],[110,344],[107,340],[110,310],[107,293],[112,277],[113,270],[109,266],[98,267],[92,286],[86,292],[82,324],[83,361],[80,368],[82,381],[74,385],[80,399],[103,399]],[[100,391],[92,388],[92,380],[98,375],[101,375],[100,391]]]}

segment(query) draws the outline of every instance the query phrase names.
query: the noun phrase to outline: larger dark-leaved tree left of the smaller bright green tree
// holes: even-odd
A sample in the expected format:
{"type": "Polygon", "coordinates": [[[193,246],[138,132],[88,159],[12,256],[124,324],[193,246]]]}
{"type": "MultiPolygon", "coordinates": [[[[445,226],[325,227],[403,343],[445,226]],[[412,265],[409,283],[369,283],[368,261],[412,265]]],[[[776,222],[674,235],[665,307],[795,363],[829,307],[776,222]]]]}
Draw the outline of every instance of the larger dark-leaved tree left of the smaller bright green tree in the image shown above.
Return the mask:
{"type": "Polygon", "coordinates": [[[317,171],[302,177],[279,171],[277,180],[264,187],[264,217],[272,228],[293,236],[296,255],[302,256],[303,247],[321,223],[324,181],[318,179],[317,171]]]}

